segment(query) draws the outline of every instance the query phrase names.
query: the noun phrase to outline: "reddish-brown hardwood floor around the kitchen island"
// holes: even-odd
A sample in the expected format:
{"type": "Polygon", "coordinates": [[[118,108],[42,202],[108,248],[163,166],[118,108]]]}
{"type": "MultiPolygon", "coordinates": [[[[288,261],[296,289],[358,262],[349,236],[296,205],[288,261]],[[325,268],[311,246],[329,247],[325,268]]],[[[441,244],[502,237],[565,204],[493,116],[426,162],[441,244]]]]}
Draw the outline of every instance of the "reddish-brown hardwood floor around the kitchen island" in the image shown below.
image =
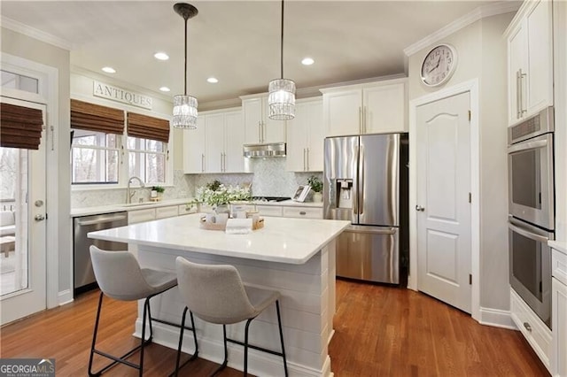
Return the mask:
{"type": "MultiPolygon", "coordinates": [[[[86,375],[97,297],[90,292],[2,327],[0,358],[55,358],[58,376],[86,375]]],[[[120,353],[133,346],[135,319],[136,303],[105,299],[101,348],[120,353]]],[[[519,332],[478,325],[470,315],[408,289],[337,281],[335,330],[329,353],[338,377],[548,376],[519,332]]],[[[175,350],[151,344],[144,358],[144,375],[166,376],[175,350]]],[[[198,359],[181,375],[209,375],[216,366],[198,359]]],[[[137,374],[118,365],[105,375],[137,374]]],[[[219,375],[242,373],[228,368],[219,375]]]]}

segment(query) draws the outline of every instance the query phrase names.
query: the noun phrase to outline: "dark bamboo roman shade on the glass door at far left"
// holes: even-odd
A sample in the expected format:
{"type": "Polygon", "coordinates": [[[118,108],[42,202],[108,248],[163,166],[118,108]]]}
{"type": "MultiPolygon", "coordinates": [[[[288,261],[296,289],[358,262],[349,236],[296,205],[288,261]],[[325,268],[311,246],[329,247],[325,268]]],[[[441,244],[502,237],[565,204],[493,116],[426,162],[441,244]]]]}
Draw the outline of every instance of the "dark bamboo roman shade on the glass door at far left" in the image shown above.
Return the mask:
{"type": "Polygon", "coordinates": [[[0,146],[39,150],[43,112],[39,109],[0,104],[0,146]]]}

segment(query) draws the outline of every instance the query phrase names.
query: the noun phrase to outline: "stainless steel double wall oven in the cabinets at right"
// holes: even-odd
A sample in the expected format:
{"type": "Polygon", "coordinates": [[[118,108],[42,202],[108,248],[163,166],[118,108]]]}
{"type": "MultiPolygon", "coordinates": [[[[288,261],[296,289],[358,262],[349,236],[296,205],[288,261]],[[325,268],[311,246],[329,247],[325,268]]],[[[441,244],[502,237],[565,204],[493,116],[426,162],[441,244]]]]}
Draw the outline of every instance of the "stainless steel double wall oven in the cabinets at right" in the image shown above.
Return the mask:
{"type": "Polygon", "coordinates": [[[554,112],[548,107],[508,129],[509,281],[551,327],[555,238],[554,112]]]}

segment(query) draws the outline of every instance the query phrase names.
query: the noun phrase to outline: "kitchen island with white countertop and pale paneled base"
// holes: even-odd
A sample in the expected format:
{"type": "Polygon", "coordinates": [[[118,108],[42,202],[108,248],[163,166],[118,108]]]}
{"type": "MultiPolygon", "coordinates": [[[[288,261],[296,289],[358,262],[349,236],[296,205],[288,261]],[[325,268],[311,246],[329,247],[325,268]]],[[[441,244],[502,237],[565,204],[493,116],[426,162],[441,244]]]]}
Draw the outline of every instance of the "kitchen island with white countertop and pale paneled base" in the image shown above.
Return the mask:
{"type": "MultiPolygon", "coordinates": [[[[335,239],[350,222],[267,217],[264,227],[250,234],[227,235],[200,228],[200,217],[159,219],[92,232],[89,237],[136,245],[143,266],[175,271],[177,256],[196,263],[235,265],[246,283],[279,290],[290,375],[331,375],[328,344],[335,312],[335,239]]],[[[155,318],[180,323],[183,303],[178,289],[153,298],[151,312],[155,318]]],[[[138,304],[137,336],[141,315],[138,304]]],[[[221,363],[222,327],[195,320],[199,357],[221,363]]],[[[227,333],[243,339],[244,323],[227,327],[227,333]]],[[[176,327],[154,324],[154,342],[175,349],[178,335],[176,327]]],[[[183,351],[192,354],[192,336],[190,332],[184,336],[183,351]]],[[[268,308],[252,322],[250,342],[279,350],[275,308],[268,308]]],[[[230,367],[243,369],[243,351],[229,344],[230,367]]],[[[248,368],[255,375],[283,375],[281,358],[256,350],[249,350],[248,368]]]]}

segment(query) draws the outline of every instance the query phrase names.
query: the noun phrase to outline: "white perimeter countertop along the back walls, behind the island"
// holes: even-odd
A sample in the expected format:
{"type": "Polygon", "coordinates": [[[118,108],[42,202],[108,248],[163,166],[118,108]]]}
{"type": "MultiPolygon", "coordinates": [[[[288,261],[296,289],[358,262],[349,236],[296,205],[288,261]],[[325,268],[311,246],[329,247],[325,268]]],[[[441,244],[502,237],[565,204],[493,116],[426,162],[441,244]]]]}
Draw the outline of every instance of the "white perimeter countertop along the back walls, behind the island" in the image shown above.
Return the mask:
{"type": "MultiPolygon", "coordinates": [[[[182,199],[172,199],[164,200],[155,203],[144,203],[144,204],[113,204],[113,205],[101,205],[96,207],[84,207],[84,208],[73,208],[71,210],[71,217],[76,218],[80,216],[90,216],[102,213],[113,213],[113,212],[123,212],[123,211],[136,211],[143,210],[144,208],[156,208],[156,207],[166,207],[167,205],[179,205],[187,204],[191,201],[191,198],[182,199]]],[[[285,200],[283,202],[252,202],[251,204],[256,205],[280,205],[286,207],[314,207],[322,208],[322,202],[296,202],[294,200],[285,200]]]]}

